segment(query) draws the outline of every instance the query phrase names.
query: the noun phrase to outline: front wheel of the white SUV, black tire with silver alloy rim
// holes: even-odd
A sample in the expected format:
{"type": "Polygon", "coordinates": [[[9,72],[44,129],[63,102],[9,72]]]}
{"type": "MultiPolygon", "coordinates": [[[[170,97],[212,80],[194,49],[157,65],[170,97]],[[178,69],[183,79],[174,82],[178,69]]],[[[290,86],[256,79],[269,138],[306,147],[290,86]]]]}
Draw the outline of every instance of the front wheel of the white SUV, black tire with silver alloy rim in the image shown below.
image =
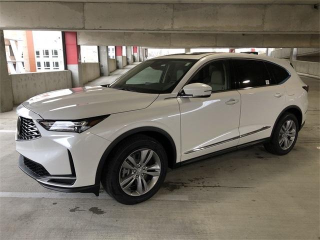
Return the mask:
{"type": "Polygon", "coordinates": [[[163,146],[152,137],[136,134],[125,138],[112,150],[103,167],[101,183],[117,201],[136,204],[158,191],[166,169],[167,155],[163,146]]]}

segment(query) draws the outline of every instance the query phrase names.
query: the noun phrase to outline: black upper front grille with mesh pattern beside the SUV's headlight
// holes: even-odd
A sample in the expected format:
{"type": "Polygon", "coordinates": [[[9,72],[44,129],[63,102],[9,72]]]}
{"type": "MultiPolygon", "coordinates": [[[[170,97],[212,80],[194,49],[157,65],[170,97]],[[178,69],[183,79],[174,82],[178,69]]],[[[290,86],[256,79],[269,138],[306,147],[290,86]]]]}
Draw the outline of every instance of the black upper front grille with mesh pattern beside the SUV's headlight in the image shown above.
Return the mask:
{"type": "Polygon", "coordinates": [[[19,116],[17,122],[17,139],[31,140],[41,136],[32,119],[19,116]]]}

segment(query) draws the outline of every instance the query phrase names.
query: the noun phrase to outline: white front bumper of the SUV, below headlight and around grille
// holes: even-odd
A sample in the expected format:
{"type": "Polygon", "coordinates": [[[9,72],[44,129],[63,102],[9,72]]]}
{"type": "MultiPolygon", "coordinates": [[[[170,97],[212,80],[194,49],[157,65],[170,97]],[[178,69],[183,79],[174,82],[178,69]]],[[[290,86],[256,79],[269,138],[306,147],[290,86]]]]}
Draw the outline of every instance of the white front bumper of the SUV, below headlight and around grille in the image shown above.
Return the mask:
{"type": "Polygon", "coordinates": [[[17,113],[33,119],[40,133],[38,138],[15,141],[16,151],[22,155],[19,166],[26,174],[50,189],[98,192],[100,179],[97,179],[96,171],[110,141],[89,130],[82,133],[48,131],[35,120],[41,117],[27,108],[20,106],[17,113]],[[40,166],[46,173],[32,172],[26,167],[24,158],[28,164],[40,166]]]}

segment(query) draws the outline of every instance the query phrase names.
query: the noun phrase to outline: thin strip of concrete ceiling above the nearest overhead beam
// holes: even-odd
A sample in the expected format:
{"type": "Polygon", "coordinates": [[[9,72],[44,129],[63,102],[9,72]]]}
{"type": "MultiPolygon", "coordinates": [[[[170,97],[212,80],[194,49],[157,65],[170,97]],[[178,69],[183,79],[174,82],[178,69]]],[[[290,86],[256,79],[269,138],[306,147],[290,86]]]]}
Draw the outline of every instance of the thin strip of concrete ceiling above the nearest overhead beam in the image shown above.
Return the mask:
{"type": "MultiPolygon", "coordinates": [[[[0,0],[20,1],[20,0],[0,0]]],[[[23,0],[35,1],[35,0],[23,0]]],[[[318,4],[319,0],[41,0],[60,2],[126,2],[126,3],[219,3],[219,4],[318,4]]]]}

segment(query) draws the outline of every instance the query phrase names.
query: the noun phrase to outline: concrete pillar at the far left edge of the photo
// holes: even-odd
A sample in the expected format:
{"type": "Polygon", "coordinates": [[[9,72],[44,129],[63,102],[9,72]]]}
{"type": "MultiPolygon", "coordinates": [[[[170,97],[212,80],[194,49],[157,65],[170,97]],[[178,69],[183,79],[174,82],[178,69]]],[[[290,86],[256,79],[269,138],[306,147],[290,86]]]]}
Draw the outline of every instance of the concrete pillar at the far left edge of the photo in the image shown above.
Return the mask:
{"type": "Polygon", "coordinates": [[[0,30],[0,112],[10,111],[12,107],[12,85],[6,63],[3,30],[0,30]]]}

